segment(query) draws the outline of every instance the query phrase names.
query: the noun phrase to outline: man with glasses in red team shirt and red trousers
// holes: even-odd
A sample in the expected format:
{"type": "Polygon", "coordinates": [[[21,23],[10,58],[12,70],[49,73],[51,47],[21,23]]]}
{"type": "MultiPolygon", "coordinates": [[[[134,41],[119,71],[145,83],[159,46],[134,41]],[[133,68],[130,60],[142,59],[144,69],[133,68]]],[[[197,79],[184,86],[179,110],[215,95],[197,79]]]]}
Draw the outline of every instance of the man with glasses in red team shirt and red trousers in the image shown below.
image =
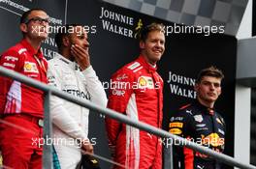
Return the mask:
{"type": "MultiPolygon", "coordinates": [[[[22,14],[23,39],[0,56],[0,66],[47,83],[47,60],[40,49],[48,37],[48,14],[33,9],[22,14]]],[[[18,169],[41,169],[44,92],[0,76],[0,148],[3,164],[18,169]],[[37,140],[37,141],[36,141],[37,140]]]]}

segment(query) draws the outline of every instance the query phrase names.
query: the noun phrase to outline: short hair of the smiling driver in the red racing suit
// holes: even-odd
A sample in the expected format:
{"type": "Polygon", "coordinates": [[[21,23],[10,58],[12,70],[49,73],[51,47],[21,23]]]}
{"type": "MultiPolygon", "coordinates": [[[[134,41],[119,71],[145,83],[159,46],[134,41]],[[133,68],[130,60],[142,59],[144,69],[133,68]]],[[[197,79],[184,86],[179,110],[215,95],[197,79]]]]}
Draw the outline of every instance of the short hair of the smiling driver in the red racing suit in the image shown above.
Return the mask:
{"type": "Polygon", "coordinates": [[[153,22],[153,23],[145,26],[140,33],[140,37],[139,37],[140,41],[145,42],[149,32],[151,32],[151,31],[160,31],[160,32],[165,33],[164,25],[162,23],[153,22]]]}

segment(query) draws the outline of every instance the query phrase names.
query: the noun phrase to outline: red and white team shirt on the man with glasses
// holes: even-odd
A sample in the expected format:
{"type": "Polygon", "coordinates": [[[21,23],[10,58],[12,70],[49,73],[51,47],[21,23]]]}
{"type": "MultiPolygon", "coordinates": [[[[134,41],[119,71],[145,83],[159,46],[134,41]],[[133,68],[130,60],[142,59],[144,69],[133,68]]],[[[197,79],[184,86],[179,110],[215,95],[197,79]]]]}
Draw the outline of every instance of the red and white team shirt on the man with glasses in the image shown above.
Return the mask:
{"type": "MultiPolygon", "coordinates": [[[[48,63],[41,50],[22,40],[0,56],[0,66],[47,83],[48,63]]],[[[0,76],[0,114],[44,115],[44,92],[11,78],[0,76]]]]}

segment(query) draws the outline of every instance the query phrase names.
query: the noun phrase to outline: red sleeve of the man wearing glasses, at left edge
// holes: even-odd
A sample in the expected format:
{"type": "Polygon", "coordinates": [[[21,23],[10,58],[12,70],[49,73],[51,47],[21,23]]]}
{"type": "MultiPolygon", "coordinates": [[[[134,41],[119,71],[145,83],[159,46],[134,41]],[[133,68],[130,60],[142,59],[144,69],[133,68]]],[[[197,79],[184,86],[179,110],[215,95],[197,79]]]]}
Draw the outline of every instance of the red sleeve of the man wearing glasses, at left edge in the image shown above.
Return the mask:
{"type": "MultiPolygon", "coordinates": [[[[0,56],[0,66],[9,70],[20,71],[23,65],[20,62],[18,53],[15,50],[5,52],[0,56]]],[[[0,114],[5,110],[6,97],[9,92],[13,80],[11,78],[0,75],[0,114]]]]}

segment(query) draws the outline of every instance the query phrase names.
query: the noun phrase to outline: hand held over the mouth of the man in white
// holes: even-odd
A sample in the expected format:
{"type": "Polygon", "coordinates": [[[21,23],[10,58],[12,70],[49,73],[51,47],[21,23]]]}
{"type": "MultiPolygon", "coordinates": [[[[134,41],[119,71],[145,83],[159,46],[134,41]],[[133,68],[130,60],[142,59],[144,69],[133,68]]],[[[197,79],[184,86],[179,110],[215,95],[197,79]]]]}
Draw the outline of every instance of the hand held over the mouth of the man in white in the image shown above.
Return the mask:
{"type": "Polygon", "coordinates": [[[81,70],[85,70],[90,66],[90,56],[88,46],[86,48],[80,47],[78,44],[72,44],[71,53],[80,66],[81,70]]]}

